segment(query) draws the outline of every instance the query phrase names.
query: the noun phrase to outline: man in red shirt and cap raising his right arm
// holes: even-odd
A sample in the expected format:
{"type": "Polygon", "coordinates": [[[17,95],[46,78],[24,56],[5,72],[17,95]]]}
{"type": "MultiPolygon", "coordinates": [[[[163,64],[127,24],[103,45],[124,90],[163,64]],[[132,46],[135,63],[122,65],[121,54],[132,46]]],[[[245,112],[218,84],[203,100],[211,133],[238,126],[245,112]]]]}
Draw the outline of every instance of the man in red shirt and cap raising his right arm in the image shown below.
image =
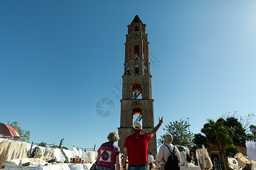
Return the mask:
{"type": "MultiPolygon", "coordinates": [[[[159,124],[147,134],[141,134],[141,122],[134,122],[134,133],[125,139],[123,145],[123,158],[128,155],[129,167],[127,170],[147,170],[147,143],[163,124],[163,117],[159,118],[159,124]]],[[[126,159],[123,159],[123,170],[126,170],[126,159]]]]}

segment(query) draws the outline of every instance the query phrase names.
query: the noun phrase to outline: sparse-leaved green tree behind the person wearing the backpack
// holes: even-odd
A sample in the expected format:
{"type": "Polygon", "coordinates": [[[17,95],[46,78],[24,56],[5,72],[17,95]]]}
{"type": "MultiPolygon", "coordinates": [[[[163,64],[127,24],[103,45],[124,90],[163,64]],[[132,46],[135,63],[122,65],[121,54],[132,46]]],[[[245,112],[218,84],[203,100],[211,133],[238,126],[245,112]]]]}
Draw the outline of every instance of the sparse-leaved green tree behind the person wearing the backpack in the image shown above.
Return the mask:
{"type": "MultiPolygon", "coordinates": [[[[174,145],[181,145],[188,148],[195,145],[193,142],[193,133],[188,130],[189,124],[188,121],[180,119],[180,121],[169,122],[163,130],[166,130],[166,134],[171,134],[174,145]]],[[[158,139],[158,146],[164,144],[164,135],[160,135],[158,139]]]]}

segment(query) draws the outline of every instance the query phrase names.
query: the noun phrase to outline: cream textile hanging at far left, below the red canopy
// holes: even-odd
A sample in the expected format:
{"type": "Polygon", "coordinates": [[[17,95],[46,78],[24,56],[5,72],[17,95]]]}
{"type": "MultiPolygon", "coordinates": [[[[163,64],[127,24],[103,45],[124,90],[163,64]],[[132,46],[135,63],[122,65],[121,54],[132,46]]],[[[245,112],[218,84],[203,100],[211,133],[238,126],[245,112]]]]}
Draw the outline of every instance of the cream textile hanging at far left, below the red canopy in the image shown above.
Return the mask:
{"type": "Polygon", "coordinates": [[[3,162],[10,159],[19,159],[27,157],[27,143],[2,140],[0,143],[0,167],[3,162]]]}

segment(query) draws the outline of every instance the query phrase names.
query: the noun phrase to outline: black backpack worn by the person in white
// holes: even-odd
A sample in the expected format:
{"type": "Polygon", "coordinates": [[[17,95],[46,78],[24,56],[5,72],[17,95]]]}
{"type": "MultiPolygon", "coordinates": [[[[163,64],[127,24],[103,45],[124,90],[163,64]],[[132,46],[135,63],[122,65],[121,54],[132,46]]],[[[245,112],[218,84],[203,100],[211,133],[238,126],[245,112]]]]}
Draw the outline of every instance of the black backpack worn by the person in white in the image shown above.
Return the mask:
{"type": "MultiPolygon", "coordinates": [[[[165,145],[167,146],[167,145],[165,145]]],[[[167,146],[168,147],[168,146],[167,146]]],[[[177,160],[177,156],[175,155],[175,146],[174,150],[171,152],[170,148],[168,147],[168,150],[170,151],[171,155],[168,157],[167,162],[164,160],[164,170],[179,170],[179,164],[177,160]]]]}

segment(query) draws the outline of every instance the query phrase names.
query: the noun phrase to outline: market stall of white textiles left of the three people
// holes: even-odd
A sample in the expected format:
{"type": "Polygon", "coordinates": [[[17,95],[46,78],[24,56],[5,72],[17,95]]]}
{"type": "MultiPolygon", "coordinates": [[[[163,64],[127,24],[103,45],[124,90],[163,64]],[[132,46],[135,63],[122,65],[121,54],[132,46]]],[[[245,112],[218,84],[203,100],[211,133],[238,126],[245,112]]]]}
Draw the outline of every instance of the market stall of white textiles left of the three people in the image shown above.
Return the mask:
{"type": "Polygon", "coordinates": [[[71,151],[0,138],[0,168],[5,169],[90,169],[96,156],[76,147],[71,151]]]}

